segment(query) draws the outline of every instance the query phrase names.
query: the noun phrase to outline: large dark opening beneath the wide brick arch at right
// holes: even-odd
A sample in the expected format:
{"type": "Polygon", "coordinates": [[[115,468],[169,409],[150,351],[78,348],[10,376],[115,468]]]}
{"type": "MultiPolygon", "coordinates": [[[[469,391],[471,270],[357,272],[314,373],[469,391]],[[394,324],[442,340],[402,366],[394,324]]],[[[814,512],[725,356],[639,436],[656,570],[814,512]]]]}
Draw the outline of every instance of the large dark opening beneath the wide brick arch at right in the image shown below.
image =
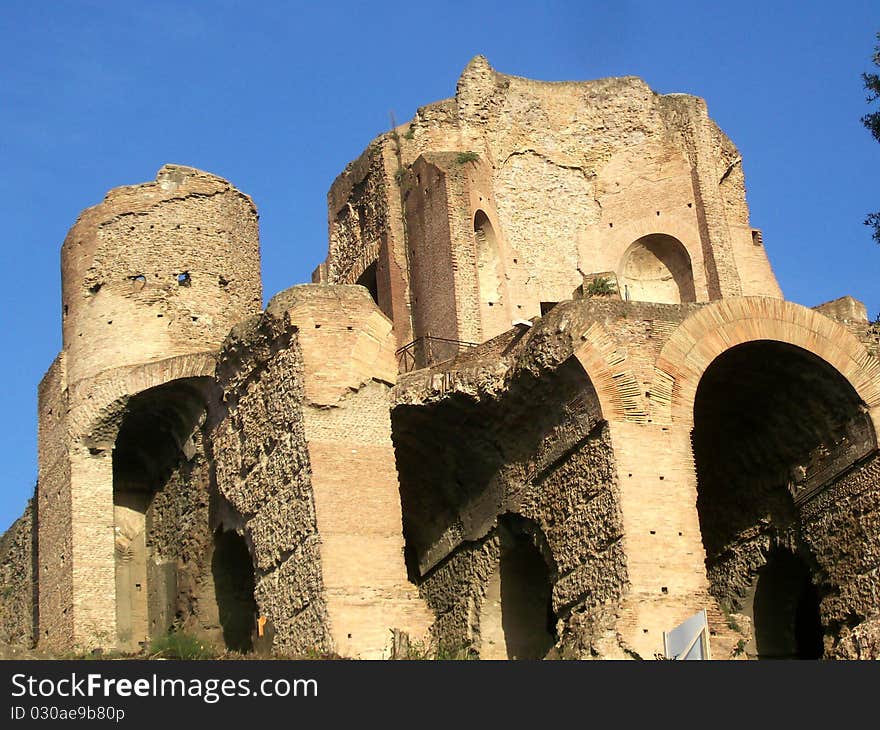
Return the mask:
{"type": "Polygon", "coordinates": [[[858,394],[804,349],[741,344],[700,380],[693,448],[712,593],[753,615],[759,655],[821,653],[820,599],[833,586],[804,541],[800,506],[876,451],[858,394]]]}

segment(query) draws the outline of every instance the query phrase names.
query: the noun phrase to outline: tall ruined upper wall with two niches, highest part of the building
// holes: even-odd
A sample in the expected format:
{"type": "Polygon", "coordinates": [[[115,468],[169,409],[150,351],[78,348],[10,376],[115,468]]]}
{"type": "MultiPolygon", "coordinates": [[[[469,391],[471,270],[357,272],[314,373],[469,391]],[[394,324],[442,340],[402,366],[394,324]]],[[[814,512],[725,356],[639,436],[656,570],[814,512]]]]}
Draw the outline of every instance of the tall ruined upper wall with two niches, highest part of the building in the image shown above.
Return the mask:
{"type": "Polygon", "coordinates": [[[738,150],[702,99],[660,95],[636,77],[533,81],[478,56],[453,99],[374,140],[333,183],[328,205],[317,280],[355,283],[378,260],[389,287],[376,282],[379,302],[415,337],[433,334],[419,331],[419,310],[436,303],[413,288],[413,261],[438,247],[456,262],[456,283],[443,288],[455,291],[462,340],[539,315],[541,302],[570,298],[598,273],[638,300],[781,297],[751,228],[738,150]],[[440,165],[441,190],[418,168],[443,152],[456,154],[440,165]],[[473,168],[464,185],[456,165],[473,168]],[[658,235],[666,243],[645,239],[658,235]],[[487,285],[489,239],[497,261],[487,285]],[[671,293],[669,272],[687,279],[671,293]],[[468,325],[473,312],[479,322],[468,325]]]}

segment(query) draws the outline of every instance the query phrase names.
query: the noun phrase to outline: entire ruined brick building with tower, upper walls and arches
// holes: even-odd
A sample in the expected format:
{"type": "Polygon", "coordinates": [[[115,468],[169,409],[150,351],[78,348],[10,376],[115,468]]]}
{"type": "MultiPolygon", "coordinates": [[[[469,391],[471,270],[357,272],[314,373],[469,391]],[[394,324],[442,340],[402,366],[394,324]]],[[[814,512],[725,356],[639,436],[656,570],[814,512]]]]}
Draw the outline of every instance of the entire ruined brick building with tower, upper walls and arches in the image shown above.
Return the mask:
{"type": "Polygon", "coordinates": [[[880,333],[784,300],[701,99],[478,57],[328,208],[265,309],[226,181],[82,214],[7,641],[880,655],[880,333]]]}

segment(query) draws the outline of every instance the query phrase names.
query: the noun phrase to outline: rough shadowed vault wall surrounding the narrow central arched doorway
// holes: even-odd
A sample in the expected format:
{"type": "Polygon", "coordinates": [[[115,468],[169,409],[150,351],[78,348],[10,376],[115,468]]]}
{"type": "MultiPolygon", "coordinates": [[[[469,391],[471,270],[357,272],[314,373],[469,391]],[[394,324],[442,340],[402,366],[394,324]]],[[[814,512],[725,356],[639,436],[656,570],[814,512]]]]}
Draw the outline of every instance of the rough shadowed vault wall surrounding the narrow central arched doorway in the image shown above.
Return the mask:
{"type": "Polygon", "coordinates": [[[608,427],[580,365],[549,346],[521,357],[506,377],[490,374],[491,354],[468,354],[398,386],[392,433],[410,573],[441,647],[479,653],[498,520],[530,520],[547,546],[557,651],[619,656],[627,574],[608,427]],[[428,428],[432,438],[420,439],[428,428]]]}

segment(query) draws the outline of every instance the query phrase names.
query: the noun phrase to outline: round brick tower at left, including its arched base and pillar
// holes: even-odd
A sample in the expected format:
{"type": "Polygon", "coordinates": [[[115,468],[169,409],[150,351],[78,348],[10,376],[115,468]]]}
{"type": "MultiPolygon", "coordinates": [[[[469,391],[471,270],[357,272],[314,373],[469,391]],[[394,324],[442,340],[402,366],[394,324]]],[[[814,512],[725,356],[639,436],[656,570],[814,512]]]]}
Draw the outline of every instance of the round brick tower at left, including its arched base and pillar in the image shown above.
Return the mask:
{"type": "Polygon", "coordinates": [[[257,219],[226,180],[166,165],[155,182],[111,190],[64,241],[64,344],[40,386],[39,641],[48,648],[122,646],[123,630],[136,644],[148,593],[161,613],[155,566],[123,566],[128,586],[119,554],[132,520],[144,546],[146,507],[129,503],[148,504],[162,480],[142,468],[146,491],[132,496],[126,479],[133,454],[176,463],[179,454],[161,458],[169,419],[183,449],[205,406],[191,408],[187,394],[201,397],[229,330],[262,309],[257,219]],[[137,635],[119,622],[128,588],[142,597],[137,635]]]}

